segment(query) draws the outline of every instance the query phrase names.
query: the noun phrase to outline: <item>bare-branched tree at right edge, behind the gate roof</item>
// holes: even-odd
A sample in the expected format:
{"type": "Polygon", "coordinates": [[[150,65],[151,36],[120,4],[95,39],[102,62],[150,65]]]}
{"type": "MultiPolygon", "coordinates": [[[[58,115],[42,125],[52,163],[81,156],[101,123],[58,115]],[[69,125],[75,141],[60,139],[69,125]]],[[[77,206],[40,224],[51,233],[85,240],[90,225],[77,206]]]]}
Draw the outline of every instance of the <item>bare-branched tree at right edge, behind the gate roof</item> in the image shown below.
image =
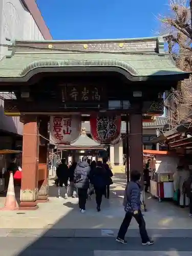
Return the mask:
{"type": "MultiPolygon", "coordinates": [[[[173,55],[177,66],[192,72],[192,0],[170,0],[170,13],[161,19],[168,52],[173,55]]],[[[169,129],[177,126],[182,120],[192,125],[192,84],[191,77],[182,81],[177,90],[169,93],[166,101],[169,117],[169,129]]]]}

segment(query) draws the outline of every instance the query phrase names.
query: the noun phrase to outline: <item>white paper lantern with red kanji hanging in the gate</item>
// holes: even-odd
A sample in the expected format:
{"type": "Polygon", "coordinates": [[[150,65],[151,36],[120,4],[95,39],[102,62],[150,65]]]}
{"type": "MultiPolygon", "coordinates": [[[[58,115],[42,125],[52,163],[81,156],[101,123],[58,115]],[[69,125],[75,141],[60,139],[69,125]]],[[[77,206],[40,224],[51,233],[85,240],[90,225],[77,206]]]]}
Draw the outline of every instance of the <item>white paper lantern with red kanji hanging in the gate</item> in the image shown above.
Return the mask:
{"type": "Polygon", "coordinates": [[[75,141],[81,132],[80,115],[51,116],[50,134],[51,140],[59,144],[70,144],[75,141]]]}

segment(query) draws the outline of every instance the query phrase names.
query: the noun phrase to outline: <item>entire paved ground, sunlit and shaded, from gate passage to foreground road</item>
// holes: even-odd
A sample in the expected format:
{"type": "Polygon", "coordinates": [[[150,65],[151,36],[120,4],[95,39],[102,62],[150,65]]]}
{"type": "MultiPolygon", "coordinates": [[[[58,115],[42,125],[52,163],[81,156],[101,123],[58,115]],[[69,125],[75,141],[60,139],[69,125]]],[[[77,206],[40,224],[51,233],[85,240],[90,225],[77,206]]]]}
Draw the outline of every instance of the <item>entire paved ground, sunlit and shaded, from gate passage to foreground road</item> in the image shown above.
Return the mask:
{"type": "MultiPolygon", "coordinates": [[[[0,211],[1,256],[73,255],[192,256],[192,219],[188,210],[170,202],[159,203],[146,197],[144,218],[148,233],[155,240],[150,247],[140,244],[137,223],[127,232],[129,244],[115,242],[124,216],[122,198],[124,174],[116,174],[111,199],[103,199],[101,212],[95,200],[88,201],[87,212],[80,214],[77,199],[58,199],[50,181],[50,202],[36,211],[0,211]]],[[[4,199],[0,198],[0,205],[4,199]]]]}

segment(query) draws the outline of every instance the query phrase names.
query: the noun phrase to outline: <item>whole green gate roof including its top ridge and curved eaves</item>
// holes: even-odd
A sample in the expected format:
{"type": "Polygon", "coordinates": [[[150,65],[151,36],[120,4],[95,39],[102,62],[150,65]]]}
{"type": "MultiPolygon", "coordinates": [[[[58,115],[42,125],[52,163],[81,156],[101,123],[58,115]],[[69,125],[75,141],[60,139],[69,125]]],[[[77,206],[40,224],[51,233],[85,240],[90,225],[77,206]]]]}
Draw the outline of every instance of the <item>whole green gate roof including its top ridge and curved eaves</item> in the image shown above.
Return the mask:
{"type": "Polygon", "coordinates": [[[0,82],[26,82],[40,72],[81,72],[84,67],[119,72],[132,81],[189,76],[164,52],[163,37],[8,43],[7,56],[0,62],[0,82]]]}

